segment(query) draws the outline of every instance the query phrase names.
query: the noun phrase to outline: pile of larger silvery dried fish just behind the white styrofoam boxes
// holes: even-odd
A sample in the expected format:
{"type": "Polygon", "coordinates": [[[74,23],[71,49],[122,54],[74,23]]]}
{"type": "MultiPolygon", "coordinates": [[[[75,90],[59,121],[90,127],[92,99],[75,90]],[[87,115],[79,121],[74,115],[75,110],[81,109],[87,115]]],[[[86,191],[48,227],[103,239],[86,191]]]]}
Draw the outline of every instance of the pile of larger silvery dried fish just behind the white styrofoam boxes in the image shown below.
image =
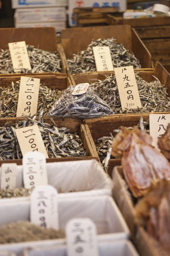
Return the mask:
{"type": "Polygon", "coordinates": [[[49,125],[26,118],[25,120],[17,120],[15,124],[7,122],[4,127],[0,127],[0,160],[21,159],[23,155],[14,129],[36,124],[40,129],[48,157],[87,156],[79,135],[71,134],[70,130],[65,127],[57,128],[55,123],[49,125]]]}

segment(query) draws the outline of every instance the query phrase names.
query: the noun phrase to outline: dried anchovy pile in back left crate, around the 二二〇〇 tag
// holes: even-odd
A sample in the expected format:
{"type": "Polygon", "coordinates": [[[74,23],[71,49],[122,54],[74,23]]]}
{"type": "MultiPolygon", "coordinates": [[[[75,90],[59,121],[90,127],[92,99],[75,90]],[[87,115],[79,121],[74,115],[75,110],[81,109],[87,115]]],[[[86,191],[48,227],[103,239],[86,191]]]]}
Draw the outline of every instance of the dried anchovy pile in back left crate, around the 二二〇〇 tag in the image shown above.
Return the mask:
{"type": "Polygon", "coordinates": [[[34,46],[31,45],[27,45],[27,51],[31,64],[31,70],[22,69],[14,72],[9,50],[1,49],[0,74],[62,72],[61,60],[57,51],[48,52],[41,49],[36,49],[34,48],[34,46]]]}

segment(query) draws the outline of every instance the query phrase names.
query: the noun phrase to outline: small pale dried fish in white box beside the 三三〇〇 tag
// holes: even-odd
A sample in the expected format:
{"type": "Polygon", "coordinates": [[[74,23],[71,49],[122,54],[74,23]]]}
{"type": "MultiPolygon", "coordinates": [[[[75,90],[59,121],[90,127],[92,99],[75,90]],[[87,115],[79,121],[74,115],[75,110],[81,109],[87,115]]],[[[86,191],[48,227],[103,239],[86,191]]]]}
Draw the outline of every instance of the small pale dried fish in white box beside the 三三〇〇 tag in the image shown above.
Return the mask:
{"type": "Polygon", "coordinates": [[[0,189],[0,198],[13,198],[13,197],[21,197],[31,195],[32,189],[25,189],[23,187],[20,188],[8,188],[8,189],[0,189]]]}

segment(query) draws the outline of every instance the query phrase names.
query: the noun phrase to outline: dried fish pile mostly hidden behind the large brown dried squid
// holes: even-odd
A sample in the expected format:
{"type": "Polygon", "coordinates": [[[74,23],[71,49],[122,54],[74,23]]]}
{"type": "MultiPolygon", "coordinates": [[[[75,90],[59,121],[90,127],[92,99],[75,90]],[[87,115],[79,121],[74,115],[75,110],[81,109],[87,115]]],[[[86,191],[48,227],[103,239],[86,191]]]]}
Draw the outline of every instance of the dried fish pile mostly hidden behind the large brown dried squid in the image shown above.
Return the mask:
{"type": "MultiPolygon", "coordinates": [[[[136,125],[136,127],[141,131],[146,131],[149,134],[149,119],[144,121],[143,116],[141,116],[140,122],[136,125]]],[[[127,127],[127,129],[133,129],[133,127],[127,127]]],[[[119,129],[113,130],[114,133],[119,133],[119,129]]],[[[114,140],[114,136],[110,133],[111,136],[103,136],[95,141],[96,150],[99,155],[100,161],[104,166],[105,170],[108,171],[108,162],[110,159],[115,159],[111,155],[111,145],[114,140]]]]}

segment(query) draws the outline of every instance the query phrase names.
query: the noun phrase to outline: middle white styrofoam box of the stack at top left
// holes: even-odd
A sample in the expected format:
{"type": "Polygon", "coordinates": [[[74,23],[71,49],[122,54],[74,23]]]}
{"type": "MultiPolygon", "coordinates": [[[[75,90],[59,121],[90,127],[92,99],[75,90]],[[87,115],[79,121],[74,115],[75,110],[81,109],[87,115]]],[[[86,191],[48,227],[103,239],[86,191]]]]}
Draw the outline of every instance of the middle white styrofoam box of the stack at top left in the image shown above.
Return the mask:
{"type": "Polygon", "coordinates": [[[16,23],[30,23],[66,20],[65,7],[47,7],[47,8],[23,8],[15,10],[16,23]]]}

